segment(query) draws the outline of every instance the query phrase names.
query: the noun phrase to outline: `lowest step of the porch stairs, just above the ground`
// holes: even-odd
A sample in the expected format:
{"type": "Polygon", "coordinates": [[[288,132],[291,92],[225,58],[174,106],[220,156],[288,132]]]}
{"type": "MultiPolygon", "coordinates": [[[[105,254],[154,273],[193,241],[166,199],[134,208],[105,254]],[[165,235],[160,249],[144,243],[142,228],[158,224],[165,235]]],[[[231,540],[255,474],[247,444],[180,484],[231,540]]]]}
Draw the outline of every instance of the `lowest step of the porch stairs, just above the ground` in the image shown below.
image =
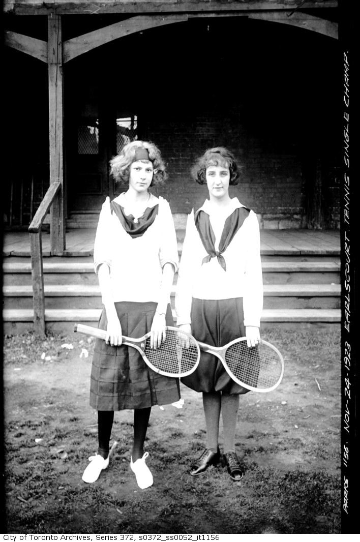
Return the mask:
{"type": "MultiPolygon", "coordinates": [[[[45,313],[48,331],[71,333],[74,324],[82,322],[97,327],[100,309],[47,309],[45,313]]],[[[174,319],[176,322],[175,314],[174,319]]],[[[316,325],[319,327],[329,324],[339,326],[341,321],[340,309],[265,309],[262,313],[261,328],[301,327],[316,325]]],[[[4,333],[24,333],[29,331],[33,322],[31,309],[7,309],[3,311],[4,333]]]]}

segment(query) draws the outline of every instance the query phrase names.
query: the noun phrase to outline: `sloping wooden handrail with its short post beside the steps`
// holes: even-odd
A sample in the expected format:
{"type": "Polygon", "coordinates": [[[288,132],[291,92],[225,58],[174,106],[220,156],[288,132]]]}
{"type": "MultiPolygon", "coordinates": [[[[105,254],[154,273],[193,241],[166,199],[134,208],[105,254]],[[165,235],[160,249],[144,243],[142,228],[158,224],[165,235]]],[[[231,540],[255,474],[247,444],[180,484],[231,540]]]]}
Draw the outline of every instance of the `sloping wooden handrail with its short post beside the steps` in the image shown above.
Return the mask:
{"type": "Polygon", "coordinates": [[[60,181],[50,184],[28,228],[30,234],[31,278],[33,281],[34,331],[42,337],[45,335],[45,299],[41,227],[59,190],[61,190],[60,181]]]}

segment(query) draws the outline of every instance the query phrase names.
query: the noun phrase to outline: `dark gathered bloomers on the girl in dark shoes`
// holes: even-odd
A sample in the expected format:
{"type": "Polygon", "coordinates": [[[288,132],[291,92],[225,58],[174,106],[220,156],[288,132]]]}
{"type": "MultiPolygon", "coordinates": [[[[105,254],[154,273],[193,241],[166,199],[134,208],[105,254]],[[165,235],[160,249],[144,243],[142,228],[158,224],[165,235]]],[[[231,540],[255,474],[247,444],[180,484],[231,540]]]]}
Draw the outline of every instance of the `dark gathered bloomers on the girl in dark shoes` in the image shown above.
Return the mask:
{"type": "MultiPolygon", "coordinates": [[[[242,298],[192,299],[191,333],[195,339],[211,346],[224,346],[239,337],[245,337],[242,298]]],[[[195,391],[222,391],[232,395],[247,393],[232,380],[220,359],[201,352],[200,363],[191,375],[181,379],[195,391]]]]}

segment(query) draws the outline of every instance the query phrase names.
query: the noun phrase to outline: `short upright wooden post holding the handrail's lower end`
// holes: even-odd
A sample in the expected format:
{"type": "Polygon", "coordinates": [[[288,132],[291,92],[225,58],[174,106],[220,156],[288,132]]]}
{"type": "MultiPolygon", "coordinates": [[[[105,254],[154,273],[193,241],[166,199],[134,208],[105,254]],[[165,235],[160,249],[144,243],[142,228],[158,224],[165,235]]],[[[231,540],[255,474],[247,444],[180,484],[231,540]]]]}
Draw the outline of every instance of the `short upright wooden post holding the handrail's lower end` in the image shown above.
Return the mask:
{"type": "Polygon", "coordinates": [[[34,331],[45,337],[44,274],[42,269],[41,228],[30,233],[31,276],[33,279],[34,331]]]}

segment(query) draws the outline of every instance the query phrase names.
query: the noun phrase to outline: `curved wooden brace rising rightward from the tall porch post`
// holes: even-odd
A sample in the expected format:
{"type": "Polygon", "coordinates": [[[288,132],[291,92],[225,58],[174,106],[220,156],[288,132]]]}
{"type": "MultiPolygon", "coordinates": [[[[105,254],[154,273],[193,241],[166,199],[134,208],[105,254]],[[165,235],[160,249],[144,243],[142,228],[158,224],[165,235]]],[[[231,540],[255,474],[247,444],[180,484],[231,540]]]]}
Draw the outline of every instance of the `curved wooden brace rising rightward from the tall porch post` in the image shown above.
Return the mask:
{"type": "Polygon", "coordinates": [[[165,24],[180,23],[187,21],[186,14],[181,15],[139,15],[130,17],[125,21],[110,24],[108,27],[99,28],[93,32],[74,37],[63,43],[63,62],[68,62],[76,56],[82,55],[100,47],[105,43],[117,40],[148,28],[162,27],[165,24]]]}

